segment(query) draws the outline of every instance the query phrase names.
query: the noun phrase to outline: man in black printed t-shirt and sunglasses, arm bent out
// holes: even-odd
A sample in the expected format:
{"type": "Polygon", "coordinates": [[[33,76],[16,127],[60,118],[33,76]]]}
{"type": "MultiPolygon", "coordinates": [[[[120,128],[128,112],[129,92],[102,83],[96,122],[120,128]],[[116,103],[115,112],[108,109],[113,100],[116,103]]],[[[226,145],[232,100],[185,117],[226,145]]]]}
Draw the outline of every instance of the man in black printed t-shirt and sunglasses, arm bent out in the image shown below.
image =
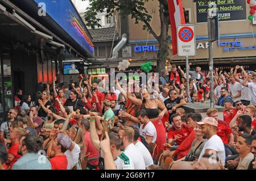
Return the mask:
{"type": "Polygon", "coordinates": [[[170,98],[164,100],[164,105],[166,106],[168,112],[170,113],[169,122],[171,123],[171,121],[170,121],[171,115],[173,115],[175,113],[176,108],[179,108],[179,107],[185,105],[186,102],[185,102],[185,100],[178,98],[177,92],[175,90],[170,90],[168,92],[168,94],[169,94],[170,98]]]}

